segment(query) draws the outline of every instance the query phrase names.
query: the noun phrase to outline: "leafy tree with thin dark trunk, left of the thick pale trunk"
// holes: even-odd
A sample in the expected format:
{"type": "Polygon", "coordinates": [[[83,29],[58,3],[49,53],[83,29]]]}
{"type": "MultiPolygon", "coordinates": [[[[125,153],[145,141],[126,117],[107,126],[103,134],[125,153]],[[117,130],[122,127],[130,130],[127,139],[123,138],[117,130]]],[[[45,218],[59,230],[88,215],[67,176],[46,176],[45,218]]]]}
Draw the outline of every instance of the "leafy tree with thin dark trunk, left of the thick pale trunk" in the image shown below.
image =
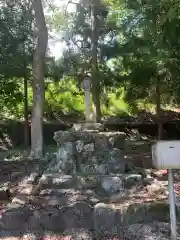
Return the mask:
{"type": "MultiPolygon", "coordinates": [[[[8,3],[8,2],[7,2],[8,3]]],[[[34,49],[32,32],[33,15],[31,3],[27,0],[16,1],[7,5],[1,3],[0,21],[0,74],[1,74],[1,107],[4,111],[15,113],[21,102],[24,102],[25,134],[24,143],[29,143],[28,96],[27,83],[31,77],[30,65],[34,49]],[[24,79],[24,94],[21,91],[24,79]],[[12,91],[12,89],[14,91],[12,91]]]]}

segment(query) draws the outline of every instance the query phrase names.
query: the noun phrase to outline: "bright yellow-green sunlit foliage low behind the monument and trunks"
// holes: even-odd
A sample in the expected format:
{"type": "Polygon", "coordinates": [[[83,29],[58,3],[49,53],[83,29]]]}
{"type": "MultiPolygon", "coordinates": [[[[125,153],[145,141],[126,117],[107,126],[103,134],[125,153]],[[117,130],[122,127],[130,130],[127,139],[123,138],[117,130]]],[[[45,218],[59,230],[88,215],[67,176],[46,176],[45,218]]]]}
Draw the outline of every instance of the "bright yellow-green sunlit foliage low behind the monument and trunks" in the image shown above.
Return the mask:
{"type": "MultiPolygon", "coordinates": [[[[22,80],[20,82],[18,90],[21,92],[21,97],[19,101],[12,98],[12,102],[4,104],[1,108],[1,119],[23,119],[23,82],[22,80]]],[[[28,99],[29,110],[31,110],[31,87],[28,88],[28,99]]],[[[1,101],[0,104],[2,104],[1,101]]],[[[127,116],[136,114],[137,109],[152,110],[154,109],[154,105],[142,99],[134,102],[132,106],[132,104],[130,105],[126,101],[126,91],[123,87],[116,89],[104,88],[101,99],[101,109],[103,115],[106,116],[127,116]]],[[[46,81],[44,112],[46,116],[53,115],[53,113],[67,115],[72,113],[84,114],[84,93],[77,86],[75,79],[64,77],[58,82],[53,82],[51,80],[46,81]]]]}

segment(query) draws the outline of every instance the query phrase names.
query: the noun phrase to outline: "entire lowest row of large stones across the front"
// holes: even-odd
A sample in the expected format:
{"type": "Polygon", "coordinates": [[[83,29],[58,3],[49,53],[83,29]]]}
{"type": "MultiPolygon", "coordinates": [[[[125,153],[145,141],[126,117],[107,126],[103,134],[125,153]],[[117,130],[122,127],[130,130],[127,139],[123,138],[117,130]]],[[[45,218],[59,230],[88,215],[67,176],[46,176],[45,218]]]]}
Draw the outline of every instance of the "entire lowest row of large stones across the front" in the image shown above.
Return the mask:
{"type": "MultiPolygon", "coordinates": [[[[37,230],[43,227],[60,232],[67,228],[87,227],[101,235],[106,232],[113,234],[119,228],[133,224],[170,221],[169,205],[165,201],[108,204],[93,203],[89,201],[88,195],[84,193],[84,196],[80,192],[68,192],[65,189],[59,190],[59,196],[53,196],[44,190],[42,196],[35,198],[34,202],[31,199],[31,202],[8,204],[1,216],[1,226],[6,230],[20,230],[29,226],[37,230]],[[65,195],[64,199],[62,194],[65,195]]],[[[178,209],[177,219],[180,220],[178,209]]]]}

